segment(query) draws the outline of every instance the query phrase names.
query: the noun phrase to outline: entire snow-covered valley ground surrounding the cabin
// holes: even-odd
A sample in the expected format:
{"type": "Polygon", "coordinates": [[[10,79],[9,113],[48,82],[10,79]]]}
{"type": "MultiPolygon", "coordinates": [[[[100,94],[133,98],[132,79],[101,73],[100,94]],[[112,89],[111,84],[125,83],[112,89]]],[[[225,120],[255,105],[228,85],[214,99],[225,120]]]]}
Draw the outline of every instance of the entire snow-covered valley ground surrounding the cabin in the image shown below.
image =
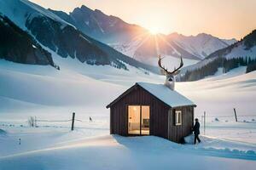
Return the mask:
{"type": "Polygon", "coordinates": [[[109,111],[105,106],[135,82],[161,83],[164,77],[146,75],[129,65],[130,71],[123,71],[53,57],[61,71],[0,60],[1,170],[255,167],[255,72],[177,82],[177,91],[197,105],[195,116],[200,121],[203,111],[207,112],[206,135],[211,136],[201,136],[198,145],[180,145],[151,136],[108,135],[109,111]],[[239,122],[234,122],[234,107],[239,122]],[[71,122],[27,126],[29,116],[70,120],[73,111],[76,119],[83,121],[75,122],[74,132],[70,132],[71,122]],[[90,116],[93,122],[89,122],[90,116]]]}

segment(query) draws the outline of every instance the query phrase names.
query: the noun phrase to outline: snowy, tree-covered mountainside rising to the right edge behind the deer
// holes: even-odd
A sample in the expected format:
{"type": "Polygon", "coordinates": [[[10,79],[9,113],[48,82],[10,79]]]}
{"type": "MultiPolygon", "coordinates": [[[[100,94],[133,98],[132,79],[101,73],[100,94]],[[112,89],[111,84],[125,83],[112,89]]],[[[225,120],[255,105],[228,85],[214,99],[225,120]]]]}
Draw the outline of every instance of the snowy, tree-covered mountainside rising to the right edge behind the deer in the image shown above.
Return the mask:
{"type": "Polygon", "coordinates": [[[199,80],[214,76],[221,68],[224,74],[237,67],[247,67],[240,74],[256,70],[256,30],[239,42],[209,54],[206,59],[195,65],[184,67],[180,73],[183,81],[199,80]]]}

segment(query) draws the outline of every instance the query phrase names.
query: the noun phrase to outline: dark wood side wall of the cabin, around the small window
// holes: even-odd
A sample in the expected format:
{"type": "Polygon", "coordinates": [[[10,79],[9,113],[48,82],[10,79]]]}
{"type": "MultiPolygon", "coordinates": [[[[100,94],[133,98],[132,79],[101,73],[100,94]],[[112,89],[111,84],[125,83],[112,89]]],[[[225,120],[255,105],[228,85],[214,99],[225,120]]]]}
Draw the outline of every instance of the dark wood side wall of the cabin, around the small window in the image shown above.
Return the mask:
{"type": "Polygon", "coordinates": [[[183,106],[177,107],[169,110],[169,132],[168,139],[174,142],[180,142],[183,137],[188,136],[192,133],[194,120],[194,107],[193,106],[183,106]],[[182,125],[175,125],[175,111],[182,111],[182,125]]]}

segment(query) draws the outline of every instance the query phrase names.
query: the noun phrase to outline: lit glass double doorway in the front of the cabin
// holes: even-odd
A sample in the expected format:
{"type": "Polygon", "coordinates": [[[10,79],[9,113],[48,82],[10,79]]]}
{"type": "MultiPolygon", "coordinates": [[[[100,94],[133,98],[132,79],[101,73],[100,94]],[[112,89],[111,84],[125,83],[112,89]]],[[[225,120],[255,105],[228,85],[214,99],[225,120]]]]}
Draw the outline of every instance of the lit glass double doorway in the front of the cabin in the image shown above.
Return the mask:
{"type": "Polygon", "coordinates": [[[149,135],[149,106],[128,106],[128,134],[149,135]]]}

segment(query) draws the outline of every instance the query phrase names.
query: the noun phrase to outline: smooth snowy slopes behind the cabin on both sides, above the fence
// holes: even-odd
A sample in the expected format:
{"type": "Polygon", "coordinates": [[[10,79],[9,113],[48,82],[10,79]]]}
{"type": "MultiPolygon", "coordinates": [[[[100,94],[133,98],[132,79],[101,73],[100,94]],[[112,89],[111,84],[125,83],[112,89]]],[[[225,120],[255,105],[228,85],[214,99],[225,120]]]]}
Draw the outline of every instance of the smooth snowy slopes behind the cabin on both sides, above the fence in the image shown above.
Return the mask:
{"type": "MultiPolygon", "coordinates": [[[[54,107],[50,110],[55,111],[58,110],[55,107],[59,106],[63,116],[75,108],[80,108],[82,112],[101,111],[108,114],[105,106],[135,82],[162,83],[165,79],[151,73],[144,74],[143,70],[129,65],[130,71],[124,71],[109,65],[86,65],[77,59],[63,59],[55,54],[53,59],[56,65],[60,65],[61,71],[50,66],[20,65],[1,60],[0,116],[15,114],[14,117],[19,115],[24,118],[31,113],[44,115],[42,108],[48,110],[48,107],[54,107]]],[[[234,105],[241,114],[253,114],[256,72],[241,76],[231,73],[220,75],[218,79],[177,82],[177,91],[197,105],[195,114],[203,111],[208,114],[232,114],[234,105]]]]}

